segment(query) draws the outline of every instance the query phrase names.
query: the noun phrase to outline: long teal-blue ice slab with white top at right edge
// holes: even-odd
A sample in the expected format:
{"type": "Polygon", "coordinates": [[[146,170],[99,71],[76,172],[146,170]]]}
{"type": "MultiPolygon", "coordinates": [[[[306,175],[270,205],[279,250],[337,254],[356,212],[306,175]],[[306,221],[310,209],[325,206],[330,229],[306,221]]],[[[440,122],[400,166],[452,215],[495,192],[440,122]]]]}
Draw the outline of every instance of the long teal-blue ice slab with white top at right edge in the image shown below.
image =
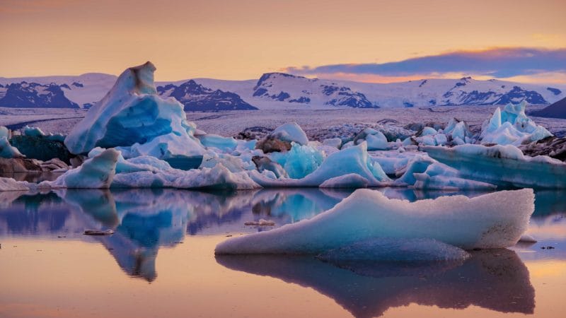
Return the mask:
{"type": "Polygon", "coordinates": [[[512,145],[423,149],[430,157],[458,170],[465,179],[498,187],[566,188],[566,163],[543,155],[527,157],[512,145]]]}

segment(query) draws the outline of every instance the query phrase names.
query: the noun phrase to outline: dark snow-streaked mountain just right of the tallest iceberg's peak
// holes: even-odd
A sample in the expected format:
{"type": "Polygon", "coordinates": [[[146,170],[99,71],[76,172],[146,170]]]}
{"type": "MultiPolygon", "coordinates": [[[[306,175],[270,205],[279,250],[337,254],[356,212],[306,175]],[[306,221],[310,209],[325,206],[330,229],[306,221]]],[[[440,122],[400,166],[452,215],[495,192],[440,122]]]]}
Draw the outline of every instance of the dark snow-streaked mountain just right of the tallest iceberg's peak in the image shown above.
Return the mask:
{"type": "Polygon", "coordinates": [[[244,102],[238,94],[212,90],[193,80],[180,85],[167,84],[158,86],[157,92],[163,97],[173,97],[185,105],[185,110],[218,111],[218,110],[257,110],[258,108],[244,102]]]}

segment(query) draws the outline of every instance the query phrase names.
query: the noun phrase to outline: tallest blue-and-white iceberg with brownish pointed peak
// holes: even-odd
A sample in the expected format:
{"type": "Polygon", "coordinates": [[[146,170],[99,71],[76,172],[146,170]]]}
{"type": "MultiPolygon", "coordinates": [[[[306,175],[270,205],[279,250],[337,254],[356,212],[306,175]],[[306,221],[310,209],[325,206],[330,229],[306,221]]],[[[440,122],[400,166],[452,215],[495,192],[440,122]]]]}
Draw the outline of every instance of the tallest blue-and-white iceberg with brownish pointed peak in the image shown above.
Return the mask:
{"type": "Polygon", "coordinates": [[[65,139],[71,153],[119,148],[125,158],[152,155],[185,167],[198,167],[204,148],[195,139],[183,105],[162,99],[154,85],[154,64],[124,71],[105,97],[91,107],[65,139]],[[195,161],[195,162],[193,162],[195,161]]]}

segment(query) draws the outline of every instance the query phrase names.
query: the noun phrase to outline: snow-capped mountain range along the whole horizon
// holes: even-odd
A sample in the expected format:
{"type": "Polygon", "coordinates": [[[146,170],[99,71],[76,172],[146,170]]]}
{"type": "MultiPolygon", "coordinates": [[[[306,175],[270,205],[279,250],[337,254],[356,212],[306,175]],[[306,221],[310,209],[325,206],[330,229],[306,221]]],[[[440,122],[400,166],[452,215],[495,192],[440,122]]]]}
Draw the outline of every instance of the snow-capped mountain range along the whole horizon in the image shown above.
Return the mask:
{"type": "MultiPolygon", "coordinates": [[[[0,78],[0,107],[88,108],[115,80],[103,73],[0,78]]],[[[187,111],[505,105],[523,100],[548,105],[566,98],[565,87],[470,77],[361,83],[265,73],[258,80],[195,78],[156,86],[160,95],[176,98],[187,111]]]]}

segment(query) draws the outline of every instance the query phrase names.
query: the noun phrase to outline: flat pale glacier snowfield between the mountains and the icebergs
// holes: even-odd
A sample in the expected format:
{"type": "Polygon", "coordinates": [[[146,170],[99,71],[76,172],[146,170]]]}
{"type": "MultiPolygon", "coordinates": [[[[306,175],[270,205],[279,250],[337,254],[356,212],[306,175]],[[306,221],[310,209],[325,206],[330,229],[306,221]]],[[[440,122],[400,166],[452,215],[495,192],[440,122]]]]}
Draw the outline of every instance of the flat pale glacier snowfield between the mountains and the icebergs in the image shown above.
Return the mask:
{"type": "MultiPolygon", "coordinates": [[[[541,110],[545,105],[528,105],[527,114],[541,110]]],[[[388,122],[404,126],[415,122],[446,123],[456,117],[471,127],[480,127],[497,106],[442,106],[380,109],[330,110],[238,110],[226,112],[187,112],[187,119],[198,129],[209,134],[237,136],[241,131],[260,127],[260,131],[277,128],[287,122],[296,122],[311,140],[340,137],[343,133],[357,134],[366,126],[388,122]],[[350,126],[347,126],[350,125],[350,126]]],[[[25,124],[37,126],[47,133],[68,134],[86,114],[85,110],[63,108],[18,109],[0,107],[0,126],[20,129],[25,124]]],[[[531,117],[556,136],[566,135],[566,119],[531,117]]]]}

